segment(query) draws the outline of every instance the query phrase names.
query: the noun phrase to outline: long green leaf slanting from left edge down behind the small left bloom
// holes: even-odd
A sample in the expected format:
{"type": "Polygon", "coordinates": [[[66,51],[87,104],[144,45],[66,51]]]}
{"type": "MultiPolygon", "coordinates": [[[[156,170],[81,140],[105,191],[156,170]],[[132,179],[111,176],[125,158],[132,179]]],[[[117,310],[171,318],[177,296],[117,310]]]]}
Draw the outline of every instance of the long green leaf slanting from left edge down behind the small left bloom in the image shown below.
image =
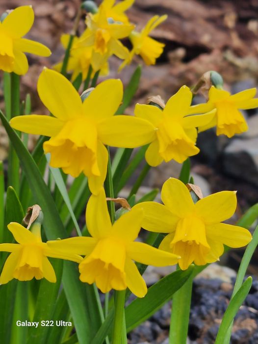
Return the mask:
{"type": "MultiPolygon", "coordinates": [[[[44,213],[44,228],[48,239],[66,238],[67,234],[50,190],[42,179],[35,161],[30,156],[19,136],[10,127],[2,112],[0,112],[0,119],[18,154],[32,193],[44,213]]],[[[77,265],[72,262],[64,263],[63,286],[75,323],[79,343],[91,343],[90,316],[86,311],[87,302],[83,292],[83,284],[78,279],[77,265]]]]}

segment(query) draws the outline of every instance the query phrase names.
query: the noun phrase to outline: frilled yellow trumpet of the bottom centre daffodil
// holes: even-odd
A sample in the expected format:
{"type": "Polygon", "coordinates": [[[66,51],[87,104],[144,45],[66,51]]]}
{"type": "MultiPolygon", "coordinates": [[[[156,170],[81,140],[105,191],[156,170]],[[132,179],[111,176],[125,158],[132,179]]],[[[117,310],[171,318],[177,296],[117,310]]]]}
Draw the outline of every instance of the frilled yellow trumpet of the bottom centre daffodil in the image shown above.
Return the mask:
{"type": "Polygon", "coordinates": [[[80,280],[89,284],[96,282],[102,292],[125,290],[125,260],[123,242],[114,238],[101,239],[92,253],[80,263],[80,280]]]}

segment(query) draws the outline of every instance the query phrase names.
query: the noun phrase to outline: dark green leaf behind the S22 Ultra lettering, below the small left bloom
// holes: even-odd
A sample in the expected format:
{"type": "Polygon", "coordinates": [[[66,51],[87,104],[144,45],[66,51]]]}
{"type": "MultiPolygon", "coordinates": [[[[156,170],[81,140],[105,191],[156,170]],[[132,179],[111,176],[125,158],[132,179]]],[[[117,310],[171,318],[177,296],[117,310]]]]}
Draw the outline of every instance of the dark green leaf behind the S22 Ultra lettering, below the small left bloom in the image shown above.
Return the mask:
{"type": "MultiPolygon", "coordinates": [[[[51,283],[45,278],[40,283],[40,288],[37,296],[37,302],[34,312],[33,321],[38,321],[39,326],[30,327],[28,332],[28,343],[44,344],[47,343],[47,334],[49,327],[41,326],[41,320],[52,320],[53,312],[55,308],[58,291],[60,288],[63,261],[60,259],[50,259],[51,264],[56,274],[56,283],[51,283]]],[[[64,319],[63,319],[64,320],[64,319]]],[[[51,328],[52,331],[59,331],[59,328],[55,326],[51,328]]],[[[23,342],[17,342],[23,343],[23,342]]]]}

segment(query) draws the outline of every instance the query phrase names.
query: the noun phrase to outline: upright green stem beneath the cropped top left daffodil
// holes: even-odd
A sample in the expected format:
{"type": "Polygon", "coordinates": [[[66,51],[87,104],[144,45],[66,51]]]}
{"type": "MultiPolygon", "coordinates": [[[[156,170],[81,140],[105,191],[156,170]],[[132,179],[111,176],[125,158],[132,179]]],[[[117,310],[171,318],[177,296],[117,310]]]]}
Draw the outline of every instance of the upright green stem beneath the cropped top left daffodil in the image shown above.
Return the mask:
{"type": "MultiPolygon", "coordinates": [[[[20,114],[20,76],[11,73],[11,117],[18,116],[20,114]]],[[[13,186],[17,195],[19,196],[20,189],[20,163],[10,144],[9,156],[8,156],[8,185],[13,186]]]]}

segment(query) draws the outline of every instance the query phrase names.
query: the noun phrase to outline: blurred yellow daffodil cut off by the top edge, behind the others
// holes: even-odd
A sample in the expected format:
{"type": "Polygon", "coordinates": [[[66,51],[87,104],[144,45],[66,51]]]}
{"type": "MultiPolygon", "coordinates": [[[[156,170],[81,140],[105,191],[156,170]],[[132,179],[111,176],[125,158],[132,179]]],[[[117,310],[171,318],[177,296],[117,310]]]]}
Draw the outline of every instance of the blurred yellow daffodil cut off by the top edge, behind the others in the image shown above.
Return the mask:
{"type": "Polygon", "coordinates": [[[125,11],[132,6],[134,0],[123,0],[115,3],[116,0],[103,0],[100,8],[104,8],[107,18],[112,18],[115,22],[124,24],[129,23],[129,19],[125,11]]]}

